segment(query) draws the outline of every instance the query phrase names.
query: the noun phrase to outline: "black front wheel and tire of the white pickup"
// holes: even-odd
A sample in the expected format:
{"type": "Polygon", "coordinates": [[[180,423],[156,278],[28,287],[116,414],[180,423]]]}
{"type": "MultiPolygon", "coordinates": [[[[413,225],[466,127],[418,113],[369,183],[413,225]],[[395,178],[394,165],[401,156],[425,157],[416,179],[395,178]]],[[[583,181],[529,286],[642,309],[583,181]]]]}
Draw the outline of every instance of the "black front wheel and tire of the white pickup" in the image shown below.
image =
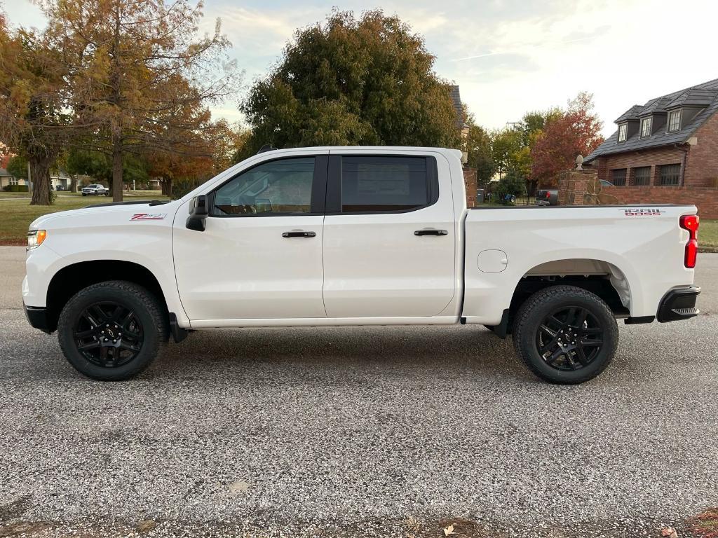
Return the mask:
{"type": "Polygon", "coordinates": [[[101,381],[139,374],[164,348],[168,336],[167,317],[157,298],[124,280],[80,290],[57,321],[57,339],[67,361],[81,374],[101,381]]]}

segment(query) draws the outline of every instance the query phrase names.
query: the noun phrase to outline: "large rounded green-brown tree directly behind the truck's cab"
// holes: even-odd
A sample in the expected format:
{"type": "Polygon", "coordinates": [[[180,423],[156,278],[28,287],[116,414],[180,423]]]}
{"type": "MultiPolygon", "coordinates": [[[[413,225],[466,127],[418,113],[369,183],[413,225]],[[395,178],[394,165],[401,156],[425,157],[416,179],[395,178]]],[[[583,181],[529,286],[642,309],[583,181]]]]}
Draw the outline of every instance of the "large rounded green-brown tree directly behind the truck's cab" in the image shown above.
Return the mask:
{"type": "Polygon", "coordinates": [[[298,30],[243,100],[246,154],[265,143],[458,147],[449,87],[433,65],[424,39],[398,17],[332,11],[325,24],[298,30]]]}

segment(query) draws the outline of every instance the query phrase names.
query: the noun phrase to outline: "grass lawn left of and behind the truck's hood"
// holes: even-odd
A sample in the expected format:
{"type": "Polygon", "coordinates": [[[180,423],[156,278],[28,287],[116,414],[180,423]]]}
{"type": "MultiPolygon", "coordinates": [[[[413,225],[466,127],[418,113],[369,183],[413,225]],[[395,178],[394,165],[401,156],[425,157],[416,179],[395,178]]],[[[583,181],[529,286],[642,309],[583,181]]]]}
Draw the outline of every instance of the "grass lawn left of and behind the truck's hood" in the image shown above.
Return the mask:
{"type": "MultiPolygon", "coordinates": [[[[151,191],[143,191],[143,194],[145,195],[141,197],[142,199],[167,200],[167,197],[156,196],[151,191]]],[[[30,205],[27,192],[0,192],[0,245],[27,244],[27,227],[29,227],[30,222],[40,215],[66,211],[67,209],[79,209],[90,204],[102,204],[111,201],[112,199],[109,197],[83,197],[74,193],[60,192],[57,194],[55,204],[51,206],[30,205]],[[5,194],[24,194],[25,196],[6,197],[5,194]]]]}

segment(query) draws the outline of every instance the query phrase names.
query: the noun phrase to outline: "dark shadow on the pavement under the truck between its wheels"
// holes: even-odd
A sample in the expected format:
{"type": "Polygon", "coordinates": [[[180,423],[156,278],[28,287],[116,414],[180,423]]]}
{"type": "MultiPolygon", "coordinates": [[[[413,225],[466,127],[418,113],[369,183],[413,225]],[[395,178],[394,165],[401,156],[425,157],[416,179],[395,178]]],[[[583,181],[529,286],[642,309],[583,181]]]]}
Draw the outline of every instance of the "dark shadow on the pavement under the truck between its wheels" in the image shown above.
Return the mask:
{"type": "Polygon", "coordinates": [[[196,331],[180,344],[170,344],[144,376],[195,376],[215,368],[231,374],[269,367],[447,366],[524,375],[510,338],[501,340],[483,327],[372,326],[196,331]]]}

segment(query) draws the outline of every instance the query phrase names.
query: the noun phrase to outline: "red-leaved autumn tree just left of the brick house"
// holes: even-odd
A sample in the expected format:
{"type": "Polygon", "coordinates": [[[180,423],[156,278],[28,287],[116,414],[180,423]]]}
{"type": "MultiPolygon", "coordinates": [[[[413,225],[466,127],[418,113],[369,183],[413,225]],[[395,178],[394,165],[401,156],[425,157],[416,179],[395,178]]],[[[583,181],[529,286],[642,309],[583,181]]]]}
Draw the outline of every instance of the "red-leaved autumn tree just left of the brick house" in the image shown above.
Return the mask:
{"type": "Polygon", "coordinates": [[[603,141],[603,124],[593,113],[593,95],[579,93],[561,117],[549,121],[531,150],[531,178],[556,184],[561,171],[573,168],[576,156],[588,155],[603,141]]]}

